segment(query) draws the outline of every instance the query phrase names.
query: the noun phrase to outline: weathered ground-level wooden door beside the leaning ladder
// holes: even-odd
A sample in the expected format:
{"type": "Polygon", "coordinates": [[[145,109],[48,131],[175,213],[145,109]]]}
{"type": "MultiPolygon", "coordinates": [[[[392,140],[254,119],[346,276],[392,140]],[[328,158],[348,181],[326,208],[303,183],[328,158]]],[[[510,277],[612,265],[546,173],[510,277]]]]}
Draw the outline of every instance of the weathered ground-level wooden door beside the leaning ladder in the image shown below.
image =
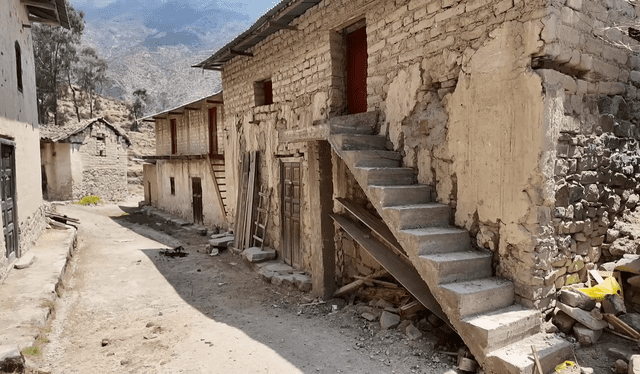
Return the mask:
{"type": "Polygon", "coordinates": [[[300,267],[300,162],[282,162],[282,258],[287,264],[300,267]]]}

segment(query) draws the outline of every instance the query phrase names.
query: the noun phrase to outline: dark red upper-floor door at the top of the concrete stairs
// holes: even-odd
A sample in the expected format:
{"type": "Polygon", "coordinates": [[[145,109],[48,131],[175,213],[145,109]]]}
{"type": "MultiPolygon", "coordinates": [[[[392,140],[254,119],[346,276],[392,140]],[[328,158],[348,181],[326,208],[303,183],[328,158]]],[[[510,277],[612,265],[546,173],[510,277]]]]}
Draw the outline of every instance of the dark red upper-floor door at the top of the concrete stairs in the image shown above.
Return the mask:
{"type": "Polygon", "coordinates": [[[367,111],[367,30],[361,27],[347,35],[347,110],[367,111]]]}

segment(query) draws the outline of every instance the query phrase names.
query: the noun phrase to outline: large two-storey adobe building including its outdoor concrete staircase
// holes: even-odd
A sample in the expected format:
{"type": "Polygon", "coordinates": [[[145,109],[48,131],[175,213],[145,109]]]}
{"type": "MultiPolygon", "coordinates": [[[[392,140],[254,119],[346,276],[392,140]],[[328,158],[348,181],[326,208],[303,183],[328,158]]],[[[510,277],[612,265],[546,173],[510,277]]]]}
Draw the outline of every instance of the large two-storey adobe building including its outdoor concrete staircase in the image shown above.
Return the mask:
{"type": "Polygon", "coordinates": [[[259,151],[270,246],[315,293],[378,263],[409,289],[409,263],[486,372],[531,373],[532,345],[546,372],[570,353],[541,329],[556,292],[637,251],[638,42],[608,28],[636,20],[623,0],[285,0],[196,67],[222,72],[230,191],[259,151]]]}

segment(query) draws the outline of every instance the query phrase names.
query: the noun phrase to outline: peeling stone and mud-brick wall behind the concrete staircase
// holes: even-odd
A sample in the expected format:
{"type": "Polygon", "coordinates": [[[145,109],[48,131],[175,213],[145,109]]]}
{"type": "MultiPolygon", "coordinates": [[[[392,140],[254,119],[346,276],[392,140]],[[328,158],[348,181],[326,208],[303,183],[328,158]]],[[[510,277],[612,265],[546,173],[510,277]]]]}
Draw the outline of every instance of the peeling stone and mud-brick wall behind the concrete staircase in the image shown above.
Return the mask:
{"type": "MultiPolygon", "coordinates": [[[[292,22],[298,30],[280,31],[253,48],[253,57],[225,65],[229,160],[259,150],[262,182],[271,187],[280,183],[279,157],[301,157],[303,175],[312,174],[307,145],[281,143],[278,131],[345,114],[342,31],[366,25],[368,110],[380,113],[377,127],[389,148],[433,187],[437,202],[454,209],[456,226],[494,252],[496,274],[515,282],[519,301],[550,309],[576,260],[594,263],[631,239],[616,217],[637,199],[630,187],[636,143],[623,135],[635,131],[640,74],[629,51],[612,44],[636,43],[607,29],[619,17],[634,18],[635,9],[622,0],[321,2],[292,22]],[[274,104],[260,106],[256,82],[266,79],[274,104]],[[593,124],[602,121],[617,133],[597,130],[593,124]]],[[[227,172],[232,186],[234,165],[227,172]]],[[[357,199],[347,192],[353,182],[340,175],[344,166],[333,167],[334,194],[357,199]]],[[[270,231],[276,248],[278,193],[270,231]]],[[[305,195],[310,191],[303,190],[303,201],[305,195]]],[[[301,242],[310,255],[308,243],[321,237],[304,206],[301,242]]],[[[338,254],[368,262],[349,239],[338,234],[337,241],[338,254]]]]}

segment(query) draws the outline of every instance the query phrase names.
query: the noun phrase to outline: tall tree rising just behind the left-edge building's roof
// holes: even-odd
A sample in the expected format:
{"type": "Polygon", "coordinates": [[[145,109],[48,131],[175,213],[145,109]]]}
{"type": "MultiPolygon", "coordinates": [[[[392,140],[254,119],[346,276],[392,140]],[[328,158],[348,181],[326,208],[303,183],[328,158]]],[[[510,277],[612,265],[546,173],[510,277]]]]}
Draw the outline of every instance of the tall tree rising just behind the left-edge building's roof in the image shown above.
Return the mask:
{"type": "Polygon", "coordinates": [[[84,30],[84,13],[76,12],[65,0],[70,29],[34,24],[33,52],[36,67],[38,119],[45,123],[53,112],[58,124],[58,94],[65,78],[71,80],[70,69],[75,63],[77,46],[84,30]]]}

